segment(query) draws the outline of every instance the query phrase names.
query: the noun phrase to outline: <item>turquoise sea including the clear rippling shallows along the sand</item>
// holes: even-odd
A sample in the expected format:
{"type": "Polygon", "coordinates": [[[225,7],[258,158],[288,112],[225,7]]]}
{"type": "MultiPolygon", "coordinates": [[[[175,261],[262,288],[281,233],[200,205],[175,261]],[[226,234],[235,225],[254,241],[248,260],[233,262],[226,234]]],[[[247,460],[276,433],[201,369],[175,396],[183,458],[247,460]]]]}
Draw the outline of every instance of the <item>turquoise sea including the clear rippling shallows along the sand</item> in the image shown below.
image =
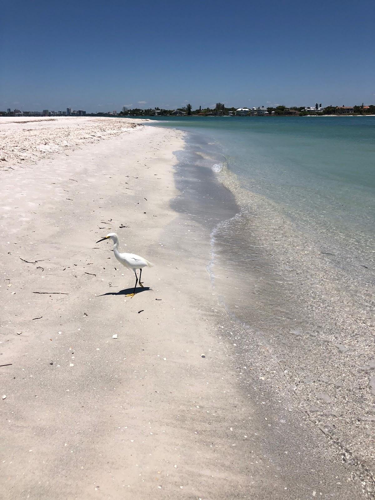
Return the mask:
{"type": "MultiPolygon", "coordinates": [[[[374,463],[375,117],[155,124],[186,131],[177,185],[195,172],[198,182],[186,187],[191,206],[184,198],[189,216],[204,196],[207,270],[235,362],[255,366],[255,352],[267,353],[264,380],[277,366],[290,401],[374,463]],[[213,174],[200,175],[204,169],[213,174]],[[212,185],[202,190],[204,182],[212,185]],[[221,213],[225,203],[228,217],[217,221],[215,206],[221,213]]],[[[277,399],[277,384],[269,381],[269,390],[277,399]]]]}

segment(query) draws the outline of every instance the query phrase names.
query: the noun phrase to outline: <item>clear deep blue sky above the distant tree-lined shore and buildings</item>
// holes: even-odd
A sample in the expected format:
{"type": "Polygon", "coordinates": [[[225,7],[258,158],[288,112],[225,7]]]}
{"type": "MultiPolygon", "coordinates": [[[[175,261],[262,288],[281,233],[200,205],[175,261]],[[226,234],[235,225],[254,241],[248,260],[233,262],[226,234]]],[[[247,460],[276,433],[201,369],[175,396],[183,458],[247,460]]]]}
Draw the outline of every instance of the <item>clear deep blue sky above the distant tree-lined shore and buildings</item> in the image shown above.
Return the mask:
{"type": "Polygon", "coordinates": [[[7,0],[0,110],[375,102],[373,0],[7,0]]]}

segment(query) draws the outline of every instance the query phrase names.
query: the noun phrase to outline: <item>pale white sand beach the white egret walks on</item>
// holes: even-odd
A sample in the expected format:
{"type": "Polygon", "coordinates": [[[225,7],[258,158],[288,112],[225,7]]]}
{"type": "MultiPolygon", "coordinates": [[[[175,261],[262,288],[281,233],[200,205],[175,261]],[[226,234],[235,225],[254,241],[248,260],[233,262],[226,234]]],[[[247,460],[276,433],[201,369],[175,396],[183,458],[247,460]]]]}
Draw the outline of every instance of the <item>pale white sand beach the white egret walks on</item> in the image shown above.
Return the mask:
{"type": "Polygon", "coordinates": [[[3,123],[1,498],[365,495],[363,470],[303,419],[282,377],[269,395],[271,361],[264,376],[261,354],[238,364],[205,268],[209,234],[170,207],[181,132],[3,123]],[[109,231],[156,264],[133,298],[133,274],[95,244],[109,231]]]}

